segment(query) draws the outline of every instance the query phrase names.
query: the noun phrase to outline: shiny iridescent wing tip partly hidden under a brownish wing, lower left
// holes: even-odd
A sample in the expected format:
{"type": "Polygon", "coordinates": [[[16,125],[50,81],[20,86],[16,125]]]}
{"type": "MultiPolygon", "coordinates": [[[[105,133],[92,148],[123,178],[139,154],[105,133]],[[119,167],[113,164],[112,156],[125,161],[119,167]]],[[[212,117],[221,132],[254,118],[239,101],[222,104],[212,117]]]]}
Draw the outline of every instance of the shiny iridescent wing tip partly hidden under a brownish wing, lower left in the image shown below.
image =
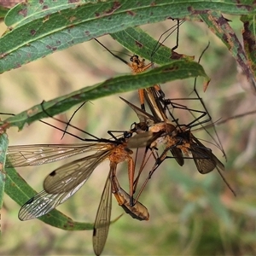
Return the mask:
{"type": "Polygon", "coordinates": [[[66,193],[49,194],[45,190],[39,192],[20,208],[18,217],[20,220],[28,220],[43,216],[64,201],[67,201],[67,199],[76,193],[84,183],[85,180],[66,193]]]}

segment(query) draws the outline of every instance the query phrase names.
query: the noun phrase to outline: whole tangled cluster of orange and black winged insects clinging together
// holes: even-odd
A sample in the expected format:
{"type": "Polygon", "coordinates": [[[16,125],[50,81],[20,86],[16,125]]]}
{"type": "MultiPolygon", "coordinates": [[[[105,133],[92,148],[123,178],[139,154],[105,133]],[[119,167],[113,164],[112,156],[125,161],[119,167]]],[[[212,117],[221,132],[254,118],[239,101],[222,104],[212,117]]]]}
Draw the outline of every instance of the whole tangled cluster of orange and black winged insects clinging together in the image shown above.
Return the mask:
{"type": "MultiPolygon", "coordinates": [[[[131,58],[131,63],[132,66],[130,67],[144,66],[144,61],[140,61],[137,55],[131,58]],[[136,65],[133,65],[134,63],[136,65]]],[[[148,67],[150,66],[151,64],[148,65],[148,67]]],[[[147,68],[143,68],[141,71],[145,69],[147,68]]],[[[103,160],[109,160],[110,170],[96,214],[93,234],[94,249],[98,255],[102,253],[108,236],[111,216],[111,193],[115,195],[119,205],[121,205],[125,209],[125,212],[128,212],[131,217],[139,220],[148,219],[147,208],[137,200],[153,172],[160,166],[163,160],[169,157],[166,154],[167,151],[171,151],[172,157],[177,160],[180,166],[183,166],[184,155],[189,158],[188,155],[192,154],[195,164],[198,164],[198,170],[203,173],[211,172],[216,166],[221,166],[221,169],[224,168],[215,155],[212,154],[212,151],[200,144],[200,142],[189,133],[192,124],[180,125],[173,116],[171,120],[167,119],[166,111],[169,111],[169,105],[173,107],[175,104],[173,104],[172,101],[166,101],[164,93],[160,90],[158,85],[146,90],[140,90],[140,96],[143,109],[138,108],[140,111],[136,111],[139,116],[139,122],[131,129],[132,132],[125,132],[119,138],[113,137],[113,139],[110,140],[98,138],[85,139],[84,143],[81,145],[39,145],[39,149],[32,145],[26,146],[26,148],[18,148],[19,151],[14,152],[14,154],[9,151],[10,166],[15,166],[15,163],[16,166],[19,166],[22,161],[24,162],[23,165],[38,165],[52,160],[67,158],[75,154],[89,153],[91,151],[96,152],[95,154],[90,154],[82,159],[61,166],[54,172],[51,172],[44,180],[44,190],[38,195],[35,195],[30,201],[27,201],[20,209],[19,217],[21,219],[38,218],[64,201],[67,201],[67,199],[76,193],[87,181],[96,166],[103,160]],[[144,98],[152,115],[144,111],[144,98]],[[134,132],[137,133],[137,135],[131,136],[134,132]],[[159,154],[156,150],[160,143],[166,145],[162,154],[159,154]],[[140,174],[144,170],[144,162],[139,167],[137,177],[135,177],[135,161],[131,157],[131,148],[143,147],[146,148],[145,154],[150,151],[154,156],[155,164],[153,168],[148,170],[148,178],[142,189],[140,189],[137,198],[134,200],[133,194],[137,189],[140,174]],[[196,153],[198,148],[201,149],[199,149],[200,153],[196,153]],[[116,177],[117,166],[123,161],[128,163],[127,171],[130,181],[129,194],[120,187],[116,177]],[[205,166],[202,167],[203,165],[199,163],[203,163],[205,166]]],[[[131,103],[129,105],[134,110],[137,108],[131,105],[131,103]]],[[[189,111],[189,108],[186,109],[189,111]]],[[[169,113],[171,115],[171,112],[169,113]]],[[[146,157],[144,157],[144,159],[146,159],[146,157]]]]}

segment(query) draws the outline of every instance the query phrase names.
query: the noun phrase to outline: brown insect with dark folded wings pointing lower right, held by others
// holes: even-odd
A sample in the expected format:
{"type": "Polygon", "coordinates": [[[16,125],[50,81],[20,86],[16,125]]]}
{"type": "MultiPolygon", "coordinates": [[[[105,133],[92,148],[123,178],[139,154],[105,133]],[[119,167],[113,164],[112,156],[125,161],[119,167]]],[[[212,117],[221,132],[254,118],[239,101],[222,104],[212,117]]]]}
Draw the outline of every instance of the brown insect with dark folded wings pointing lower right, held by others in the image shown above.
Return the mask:
{"type": "MultiPolygon", "coordinates": [[[[124,100],[125,101],[125,100],[124,100]]],[[[126,101],[125,101],[126,102],[126,101]]],[[[155,158],[155,164],[150,169],[148,177],[142,185],[142,188],[137,194],[137,198],[143,192],[144,187],[148,183],[148,180],[152,177],[155,170],[160,166],[160,164],[167,158],[174,158],[177,160],[177,163],[180,166],[183,166],[184,159],[193,159],[195,161],[195,166],[201,174],[206,174],[212,172],[214,169],[217,169],[220,176],[223,178],[224,183],[227,184],[229,189],[234,195],[235,191],[230,188],[229,183],[226,182],[221,171],[224,171],[223,163],[218,160],[215,154],[212,153],[212,149],[207,148],[203,143],[198,140],[190,130],[183,127],[180,129],[178,126],[174,126],[171,123],[156,123],[154,124],[154,119],[150,119],[150,114],[143,112],[142,109],[137,108],[132,105],[130,102],[126,102],[135,112],[137,113],[140,120],[148,118],[147,124],[148,131],[138,133],[137,135],[128,139],[129,148],[139,148],[147,147],[151,150],[157,147],[157,144],[164,144],[165,149],[163,152],[155,158]],[[167,155],[167,151],[171,151],[172,156],[167,155]]],[[[142,171],[142,170],[140,170],[142,171]]],[[[141,172],[138,172],[138,175],[134,182],[134,190],[137,188],[138,179],[141,172]]]]}

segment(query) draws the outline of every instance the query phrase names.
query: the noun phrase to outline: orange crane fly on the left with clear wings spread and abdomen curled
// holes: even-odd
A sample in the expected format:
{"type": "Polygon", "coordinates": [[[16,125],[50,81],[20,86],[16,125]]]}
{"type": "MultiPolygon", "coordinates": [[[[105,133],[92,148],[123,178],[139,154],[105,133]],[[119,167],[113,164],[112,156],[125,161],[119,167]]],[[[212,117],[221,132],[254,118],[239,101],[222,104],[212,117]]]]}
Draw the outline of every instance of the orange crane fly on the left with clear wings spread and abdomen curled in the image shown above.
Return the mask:
{"type": "MultiPolygon", "coordinates": [[[[65,133],[70,134],[66,130],[65,133]]],[[[119,202],[119,205],[123,207],[125,212],[129,213],[132,218],[147,220],[149,216],[147,208],[139,201],[135,202],[134,205],[130,207],[127,200],[130,196],[119,186],[116,177],[118,164],[126,162],[128,165],[127,171],[129,180],[131,181],[131,194],[135,172],[135,162],[131,157],[133,152],[131,149],[127,148],[127,139],[131,136],[131,131],[125,131],[122,137],[113,137],[114,140],[96,139],[96,137],[94,137],[92,139],[85,138],[83,139],[84,143],[79,144],[10,146],[7,154],[6,167],[38,166],[56,160],[62,160],[77,154],[95,152],[94,154],[89,154],[78,160],[73,160],[64,166],[55,169],[55,171],[50,172],[44,179],[44,190],[33,196],[29,201],[26,201],[20,208],[20,220],[28,220],[43,216],[64,201],[67,201],[67,199],[74,195],[84,185],[90,177],[90,174],[104,160],[109,160],[110,169],[96,213],[93,232],[93,247],[96,255],[102,253],[102,249],[107,240],[111,217],[112,193],[119,202]]]]}

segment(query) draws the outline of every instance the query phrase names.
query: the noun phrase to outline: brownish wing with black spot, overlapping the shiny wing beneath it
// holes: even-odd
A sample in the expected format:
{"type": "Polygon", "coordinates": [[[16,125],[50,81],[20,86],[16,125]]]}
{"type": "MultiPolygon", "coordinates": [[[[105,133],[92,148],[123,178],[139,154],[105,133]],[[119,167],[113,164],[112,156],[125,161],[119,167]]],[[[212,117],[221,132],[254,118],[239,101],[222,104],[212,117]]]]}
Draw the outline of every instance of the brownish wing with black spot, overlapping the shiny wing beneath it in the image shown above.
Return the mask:
{"type": "Polygon", "coordinates": [[[49,194],[68,193],[86,181],[109,154],[110,149],[100,151],[57,168],[44,179],[44,190],[49,194]]]}

